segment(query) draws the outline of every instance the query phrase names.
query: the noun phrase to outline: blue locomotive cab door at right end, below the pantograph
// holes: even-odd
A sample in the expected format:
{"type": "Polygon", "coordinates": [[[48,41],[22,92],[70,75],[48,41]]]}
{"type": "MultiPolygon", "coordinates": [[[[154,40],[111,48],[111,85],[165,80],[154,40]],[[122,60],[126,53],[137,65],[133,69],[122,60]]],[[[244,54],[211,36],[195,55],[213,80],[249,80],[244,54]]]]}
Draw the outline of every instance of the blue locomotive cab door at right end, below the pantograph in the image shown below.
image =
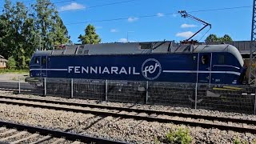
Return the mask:
{"type": "Polygon", "coordinates": [[[200,53],[198,56],[198,83],[210,83],[212,54],[200,53]]]}

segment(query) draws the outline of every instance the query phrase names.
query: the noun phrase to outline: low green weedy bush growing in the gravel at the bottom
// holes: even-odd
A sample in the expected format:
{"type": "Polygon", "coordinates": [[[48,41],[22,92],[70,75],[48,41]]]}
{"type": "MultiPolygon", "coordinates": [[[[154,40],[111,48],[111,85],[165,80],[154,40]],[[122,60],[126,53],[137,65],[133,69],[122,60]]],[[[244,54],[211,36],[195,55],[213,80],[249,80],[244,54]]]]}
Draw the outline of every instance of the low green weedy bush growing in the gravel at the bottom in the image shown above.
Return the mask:
{"type": "Polygon", "coordinates": [[[188,144],[192,142],[190,130],[188,129],[170,130],[170,132],[166,134],[166,139],[170,143],[188,144]]]}

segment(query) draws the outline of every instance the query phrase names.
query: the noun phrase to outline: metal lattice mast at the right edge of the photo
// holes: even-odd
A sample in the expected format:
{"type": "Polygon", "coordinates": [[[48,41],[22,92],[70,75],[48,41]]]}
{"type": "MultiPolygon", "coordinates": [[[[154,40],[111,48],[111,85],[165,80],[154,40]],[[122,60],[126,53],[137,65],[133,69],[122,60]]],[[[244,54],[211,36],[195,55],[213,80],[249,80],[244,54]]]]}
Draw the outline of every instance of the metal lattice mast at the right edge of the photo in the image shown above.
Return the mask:
{"type": "Polygon", "coordinates": [[[250,39],[250,75],[249,84],[256,86],[256,0],[254,0],[253,6],[253,18],[252,18],[252,28],[251,28],[251,39],[250,39]]]}

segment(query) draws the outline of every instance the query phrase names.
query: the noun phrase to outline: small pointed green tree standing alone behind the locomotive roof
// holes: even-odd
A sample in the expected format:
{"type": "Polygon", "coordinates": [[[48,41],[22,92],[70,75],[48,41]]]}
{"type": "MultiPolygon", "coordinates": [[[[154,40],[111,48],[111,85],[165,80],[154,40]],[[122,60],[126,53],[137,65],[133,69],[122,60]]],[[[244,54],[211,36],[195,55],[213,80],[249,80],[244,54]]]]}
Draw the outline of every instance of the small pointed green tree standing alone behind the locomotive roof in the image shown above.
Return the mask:
{"type": "Polygon", "coordinates": [[[93,25],[88,25],[86,27],[85,33],[85,35],[79,35],[78,42],[82,42],[82,44],[98,44],[102,41],[102,39],[99,38],[98,34],[96,34],[96,30],[93,25]]]}

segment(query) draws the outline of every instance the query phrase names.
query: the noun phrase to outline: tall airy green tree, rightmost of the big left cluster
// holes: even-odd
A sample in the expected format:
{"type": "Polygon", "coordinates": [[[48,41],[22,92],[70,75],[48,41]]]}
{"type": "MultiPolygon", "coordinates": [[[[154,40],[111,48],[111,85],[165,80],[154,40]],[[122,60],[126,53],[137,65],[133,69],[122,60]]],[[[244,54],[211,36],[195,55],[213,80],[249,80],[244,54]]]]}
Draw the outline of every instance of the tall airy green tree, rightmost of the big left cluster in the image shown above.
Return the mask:
{"type": "Polygon", "coordinates": [[[64,26],[56,7],[50,0],[37,0],[33,7],[42,50],[51,50],[54,45],[66,44],[70,41],[66,26],[64,26]]]}

